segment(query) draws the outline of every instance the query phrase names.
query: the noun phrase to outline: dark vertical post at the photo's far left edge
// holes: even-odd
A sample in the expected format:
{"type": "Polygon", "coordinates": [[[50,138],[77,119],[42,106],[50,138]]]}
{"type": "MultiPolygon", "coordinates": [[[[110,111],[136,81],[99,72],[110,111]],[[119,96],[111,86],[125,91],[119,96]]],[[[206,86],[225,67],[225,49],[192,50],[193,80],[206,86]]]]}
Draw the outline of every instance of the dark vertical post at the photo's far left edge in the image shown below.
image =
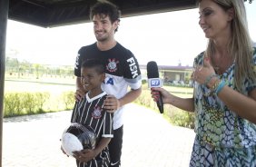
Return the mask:
{"type": "Polygon", "coordinates": [[[5,41],[9,0],[0,0],[0,167],[3,152],[3,117],[5,92],[5,41]]]}

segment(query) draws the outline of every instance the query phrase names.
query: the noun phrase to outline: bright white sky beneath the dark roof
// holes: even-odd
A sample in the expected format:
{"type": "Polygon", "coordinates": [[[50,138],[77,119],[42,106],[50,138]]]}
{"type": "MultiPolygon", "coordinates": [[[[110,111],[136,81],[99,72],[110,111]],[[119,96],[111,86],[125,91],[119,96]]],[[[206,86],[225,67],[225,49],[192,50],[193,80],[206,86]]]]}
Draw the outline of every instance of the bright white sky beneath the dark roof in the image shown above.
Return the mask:
{"type": "MultiPolygon", "coordinates": [[[[256,2],[245,3],[251,39],[256,42],[256,2]]],[[[115,39],[139,64],[192,65],[206,47],[198,9],[121,18],[115,39]]],[[[74,65],[80,47],[95,42],[92,23],[43,28],[7,22],[6,56],[34,64],[74,65]]]]}

